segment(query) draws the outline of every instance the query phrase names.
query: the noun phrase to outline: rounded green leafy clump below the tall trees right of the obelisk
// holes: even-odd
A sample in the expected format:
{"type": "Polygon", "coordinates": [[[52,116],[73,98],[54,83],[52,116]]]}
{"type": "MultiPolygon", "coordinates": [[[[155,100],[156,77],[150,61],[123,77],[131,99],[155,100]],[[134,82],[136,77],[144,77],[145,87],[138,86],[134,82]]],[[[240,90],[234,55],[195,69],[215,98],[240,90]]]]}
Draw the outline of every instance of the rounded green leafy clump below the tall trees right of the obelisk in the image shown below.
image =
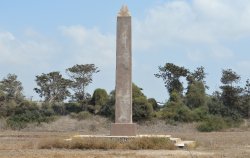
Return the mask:
{"type": "Polygon", "coordinates": [[[191,109],[205,106],[206,103],[206,93],[205,87],[202,82],[195,81],[188,85],[188,90],[186,94],[187,106],[191,109]]]}

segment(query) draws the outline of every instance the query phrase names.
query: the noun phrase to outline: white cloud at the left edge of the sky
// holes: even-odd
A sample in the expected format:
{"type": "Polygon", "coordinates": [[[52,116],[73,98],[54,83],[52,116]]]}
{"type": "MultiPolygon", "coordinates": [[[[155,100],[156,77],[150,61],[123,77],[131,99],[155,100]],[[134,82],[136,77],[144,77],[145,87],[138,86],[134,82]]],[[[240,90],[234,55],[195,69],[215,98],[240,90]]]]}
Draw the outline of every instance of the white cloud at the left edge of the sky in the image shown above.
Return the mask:
{"type": "Polygon", "coordinates": [[[36,36],[19,39],[11,32],[0,32],[0,62],[2,64],[45,65],[49,57],[57,51],[56,44],[36,36]]]}

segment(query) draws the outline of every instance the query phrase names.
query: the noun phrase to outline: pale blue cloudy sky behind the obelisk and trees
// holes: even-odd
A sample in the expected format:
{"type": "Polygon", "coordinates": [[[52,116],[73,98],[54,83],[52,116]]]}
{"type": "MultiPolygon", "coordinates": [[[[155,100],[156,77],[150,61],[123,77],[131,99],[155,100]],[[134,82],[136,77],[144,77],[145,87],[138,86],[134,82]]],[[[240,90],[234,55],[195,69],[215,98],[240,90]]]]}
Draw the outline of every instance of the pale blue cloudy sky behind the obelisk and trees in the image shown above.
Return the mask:
{"type": "Polygon", "coordinates": [[[132,15],[133,82],[149,98],[169,95],[158,66],[170,62],[190,71],[203,66],[211,94],[222,69],[250,78],[249,0],[1,0],[0,79],[16,74],[27,98],[35,76],[75,64],[100,72],[87,87],[115,88],[116,16],[123,4],[132,15]]]}

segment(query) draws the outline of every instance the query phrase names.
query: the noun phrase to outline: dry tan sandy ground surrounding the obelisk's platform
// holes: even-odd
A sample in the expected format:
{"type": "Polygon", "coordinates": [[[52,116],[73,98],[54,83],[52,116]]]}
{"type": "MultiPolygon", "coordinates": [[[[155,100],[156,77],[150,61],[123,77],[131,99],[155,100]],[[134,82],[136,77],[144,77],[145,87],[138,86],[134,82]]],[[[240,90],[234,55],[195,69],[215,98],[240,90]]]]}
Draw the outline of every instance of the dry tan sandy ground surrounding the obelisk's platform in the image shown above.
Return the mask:
{"type": "Polygon", "coordinates": [[[250,130],[249,126],[239,129],[230,129],[224,132],[201,133],[197,132],[193,124],[178,126],[165,125],[162,122],[145,123],[139,125],[140,134],[170,134],[184,140],[195,140],[198,147],[192,150],[67,150],[67,149],[38,149],[39,143],[47,138],[69,138],[75,134],[107,134],[109,126],[107,120],[100,119],[93,124],[103,126],[93,128],[91,121],[88,126],[67,127],[74,122],[69,118],[61,118],[64,128],[58,122],[28,127],[22,131],[0,129],[0,158],[249,158],[250,157],[250,130]],[[102,121],[106,122],[103,123],[102,121]],[[60,128],[56,128],[60,126],[60,128]],[[48,128],[50,127],[50,128],[48,128]],[[78,129],[75,129],[78,128],[78,129]],[[49,130],[48,130],[49,129],[49,130]],[[59,130],[58,130],[59,129],[59,130]]]}

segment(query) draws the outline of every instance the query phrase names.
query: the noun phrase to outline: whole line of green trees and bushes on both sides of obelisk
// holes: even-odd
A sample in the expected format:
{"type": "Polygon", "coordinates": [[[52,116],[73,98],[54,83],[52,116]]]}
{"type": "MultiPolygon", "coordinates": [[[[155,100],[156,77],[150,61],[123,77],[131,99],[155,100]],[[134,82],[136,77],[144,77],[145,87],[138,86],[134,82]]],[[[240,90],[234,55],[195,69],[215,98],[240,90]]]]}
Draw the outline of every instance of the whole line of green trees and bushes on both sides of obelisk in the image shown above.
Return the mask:
{"type": "MultiPolygon", "coordinates": [[[[60,72],[37,75],[34,91],[43,99],[28,100],[23,95],[22,83],[15,74],[0,81],[0,118],[7,126],[21,129],[29,123],[49,122],[62,115],[84,119],[89,115],[102,115],[114,119],[115,91],[96,89],[91,95],[86,87],[100,70],[94,64],[74,65],[60,72]],[[67,101],[66,101],[67,100],[67,101]]],[[[155,74],[162,78],[170,97],[164,106],[154,98],[147,98],[140,87],[133,84],[133,120],[162,119],[166,123],[199,122],[200,131],[221,130],[238,126],[250,116],[250,82],[238,85],[240,76],[231,69],[222,71],[221,86],[212,95],[206,94],[206,73],[203,67],[190,71],[173,63],[159,67],[155,74]],[[184,87],[182,81],[187,82],[184,87]]]]}

